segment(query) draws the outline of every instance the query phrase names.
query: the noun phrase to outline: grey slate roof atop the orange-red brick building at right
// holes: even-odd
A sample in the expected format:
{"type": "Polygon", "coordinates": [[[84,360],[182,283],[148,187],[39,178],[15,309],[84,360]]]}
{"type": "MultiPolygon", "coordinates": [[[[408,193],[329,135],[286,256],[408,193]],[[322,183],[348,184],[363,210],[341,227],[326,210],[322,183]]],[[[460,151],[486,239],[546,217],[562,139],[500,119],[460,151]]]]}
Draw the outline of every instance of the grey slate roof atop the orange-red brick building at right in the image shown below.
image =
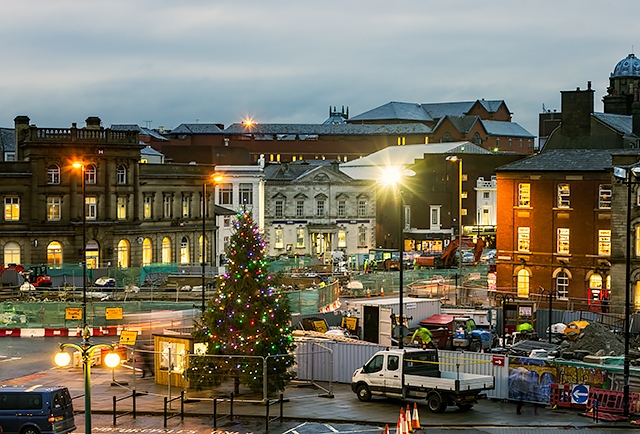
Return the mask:
{"type": "Polygon", "coordinates": [[[496,172],[603,172],[615,149],[551,149],[505,164],[496,172]]]}

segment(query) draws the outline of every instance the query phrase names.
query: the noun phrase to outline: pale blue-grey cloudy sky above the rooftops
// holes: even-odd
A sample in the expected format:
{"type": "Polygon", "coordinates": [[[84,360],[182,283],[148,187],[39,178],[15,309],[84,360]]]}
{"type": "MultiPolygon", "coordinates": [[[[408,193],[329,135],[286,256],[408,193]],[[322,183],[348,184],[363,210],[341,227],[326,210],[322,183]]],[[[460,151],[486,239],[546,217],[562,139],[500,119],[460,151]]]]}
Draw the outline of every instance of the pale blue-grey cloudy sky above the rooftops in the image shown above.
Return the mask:
{"type": "Polygon", "coordinates": [[[542,106],[640,47],[637,0],[0,0],[0,126],[321,123],[389,101],[542,106]]]}

